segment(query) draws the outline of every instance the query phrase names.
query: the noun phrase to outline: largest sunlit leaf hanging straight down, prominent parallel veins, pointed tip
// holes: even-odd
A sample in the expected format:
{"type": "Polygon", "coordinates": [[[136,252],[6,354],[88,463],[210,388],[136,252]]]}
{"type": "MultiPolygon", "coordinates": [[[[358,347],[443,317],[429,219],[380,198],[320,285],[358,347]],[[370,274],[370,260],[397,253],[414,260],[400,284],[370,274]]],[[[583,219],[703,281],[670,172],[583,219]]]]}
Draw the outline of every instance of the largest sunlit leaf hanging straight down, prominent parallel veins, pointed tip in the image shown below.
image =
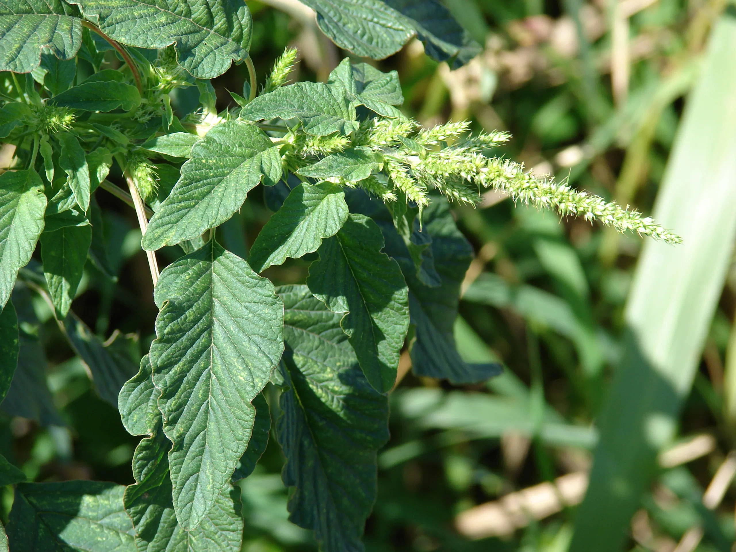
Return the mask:
{"type": "Polygon", "coordinates": [[[283,305],[269,280],[212,240],[164,269],[155,301],[153,382],[174,443],[174,508],[189,531],[246,450],[255,417],[250,403],[283,351],[283,305]]]}

